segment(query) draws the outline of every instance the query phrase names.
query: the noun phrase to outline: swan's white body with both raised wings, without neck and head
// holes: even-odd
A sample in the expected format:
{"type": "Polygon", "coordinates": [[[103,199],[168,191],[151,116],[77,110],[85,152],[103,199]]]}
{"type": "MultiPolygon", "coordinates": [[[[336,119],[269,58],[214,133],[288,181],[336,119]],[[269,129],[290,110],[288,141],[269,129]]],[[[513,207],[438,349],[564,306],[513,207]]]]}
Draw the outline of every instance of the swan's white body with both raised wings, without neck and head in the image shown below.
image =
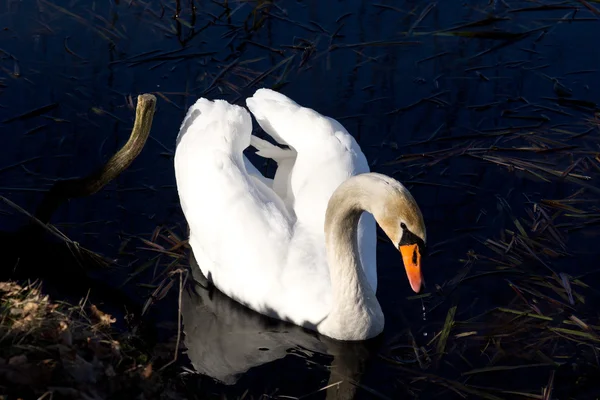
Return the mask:
{"type": "MultiPolygon", "coordinates": [[[[247,105],[265,132],[290,150],[272,153],[281,159],[270,186],[258,170],[249,174],[246,168],[249,113],[224,101],[198,100],[181,125],[175,151],[190,245],[204,275],[229,297],[262,314],[314,327],[331,306],[323,230],[327,203],[339,184],[368,172],[368,164],[335,120],[266,89],[247,105]]],[[[370,215],[361,219],[359,240],[376,288],[370,215]]]]}

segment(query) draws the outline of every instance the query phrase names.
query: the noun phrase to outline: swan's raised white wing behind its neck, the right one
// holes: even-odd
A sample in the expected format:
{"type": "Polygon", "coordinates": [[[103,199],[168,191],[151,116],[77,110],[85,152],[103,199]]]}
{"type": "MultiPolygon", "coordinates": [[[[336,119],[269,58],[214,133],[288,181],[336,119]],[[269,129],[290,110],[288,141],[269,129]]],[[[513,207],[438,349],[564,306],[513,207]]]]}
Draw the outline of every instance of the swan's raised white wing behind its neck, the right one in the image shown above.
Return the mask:
{"type": "MultiPolygon", "coordinates": [[[[267,134],[297,153],[285,191],[293,199],[297,224],[316,242],[323,243],[329,198],[350,176],[369,172],[365,155],[338,121],[302,107],[283,94],[259,89],[246,104],[267,134]]],[[[374,290],[377,288],[375,246],[375,220],[365,213],[359,227],[359,248],[374,290]]]]}

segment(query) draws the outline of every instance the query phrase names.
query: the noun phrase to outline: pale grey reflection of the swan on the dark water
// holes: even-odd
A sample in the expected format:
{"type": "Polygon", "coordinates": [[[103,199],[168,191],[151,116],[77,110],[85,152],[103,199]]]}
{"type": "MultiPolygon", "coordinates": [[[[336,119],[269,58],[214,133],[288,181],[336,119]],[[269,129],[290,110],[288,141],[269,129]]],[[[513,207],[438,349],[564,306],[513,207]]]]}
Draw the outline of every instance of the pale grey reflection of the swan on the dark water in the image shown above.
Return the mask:
{"type": "Polygon", "coordinates": [[[331,359],[330,365],[315,364],[331,371],[324,385],[330,386],[327,398],[354,396],[379,340],[338,342],[258,314],[216,289],[202,275],[193,256],[190,258],[192,276],[182,296],[182,317],[185,353],[195,372],[234,385],[251,368],[283,359],[291,352],[304,354],[309,362],[325,355],[331,359]]]}

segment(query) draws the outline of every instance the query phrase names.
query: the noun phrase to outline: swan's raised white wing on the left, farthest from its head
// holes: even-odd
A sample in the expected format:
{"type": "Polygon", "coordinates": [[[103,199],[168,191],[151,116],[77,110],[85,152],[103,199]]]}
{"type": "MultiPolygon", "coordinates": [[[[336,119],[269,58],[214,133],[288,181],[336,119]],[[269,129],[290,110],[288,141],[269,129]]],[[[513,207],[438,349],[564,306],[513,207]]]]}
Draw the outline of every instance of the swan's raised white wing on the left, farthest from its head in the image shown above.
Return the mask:
{"type": "MultiPolygon", "coordinates": [[[[246,170],[252,121],[242,107],[198,100],[175,150],[181,207],[202,272],[230,297],[264,311],[277,296],[291,237],[283,201],[246,170]]],[[[256,171],[258,172],[258,171],[256,171]]]]}

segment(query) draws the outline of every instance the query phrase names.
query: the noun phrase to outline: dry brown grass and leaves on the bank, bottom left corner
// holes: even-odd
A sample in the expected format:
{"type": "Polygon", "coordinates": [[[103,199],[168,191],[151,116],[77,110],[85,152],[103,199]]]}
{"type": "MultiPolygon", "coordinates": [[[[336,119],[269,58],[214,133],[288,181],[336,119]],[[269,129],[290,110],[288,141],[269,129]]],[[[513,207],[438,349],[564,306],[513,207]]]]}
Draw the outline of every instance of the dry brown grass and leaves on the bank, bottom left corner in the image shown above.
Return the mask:
{"type": "Polygon", "coordinates": [[[148,355],[82,300],[53,302],[39,283],[0,282],[0,385],[20,398],[174,398],[148,355]]]}

